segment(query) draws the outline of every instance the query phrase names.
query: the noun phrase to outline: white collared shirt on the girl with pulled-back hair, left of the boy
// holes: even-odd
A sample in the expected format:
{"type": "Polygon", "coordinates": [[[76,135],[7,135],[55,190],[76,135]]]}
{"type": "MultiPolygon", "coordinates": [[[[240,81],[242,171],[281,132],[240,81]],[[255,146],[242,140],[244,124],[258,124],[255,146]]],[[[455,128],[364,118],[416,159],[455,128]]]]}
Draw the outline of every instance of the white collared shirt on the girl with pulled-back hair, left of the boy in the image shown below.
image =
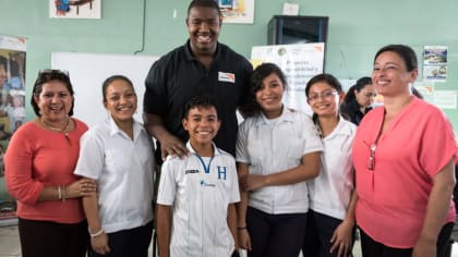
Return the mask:
{"type": "Polygon", "coordinates": [[[97,180],[98,211],[107,233],[153,220],[153,142],[134,122],[133,140],[109,117],[81,138],[75,174],[97,180]]]}

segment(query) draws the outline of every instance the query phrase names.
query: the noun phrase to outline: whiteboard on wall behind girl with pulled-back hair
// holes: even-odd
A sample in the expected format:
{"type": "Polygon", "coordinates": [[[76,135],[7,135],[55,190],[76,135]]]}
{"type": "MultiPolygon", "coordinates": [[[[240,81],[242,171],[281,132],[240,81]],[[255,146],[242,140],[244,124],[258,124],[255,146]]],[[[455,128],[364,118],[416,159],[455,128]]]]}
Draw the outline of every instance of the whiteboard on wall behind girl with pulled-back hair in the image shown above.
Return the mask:
{"type": "Polygon", "coordinates": [[[134,118],[143,122],[145,78],[157,59],[152,56],[52,52],[51,68],[69,72],[75,91],[74,117],[91,127],[108,117],[103,105],[101,84],[111,75],[124,75],[132,81],[138,97],[134,118]]]}

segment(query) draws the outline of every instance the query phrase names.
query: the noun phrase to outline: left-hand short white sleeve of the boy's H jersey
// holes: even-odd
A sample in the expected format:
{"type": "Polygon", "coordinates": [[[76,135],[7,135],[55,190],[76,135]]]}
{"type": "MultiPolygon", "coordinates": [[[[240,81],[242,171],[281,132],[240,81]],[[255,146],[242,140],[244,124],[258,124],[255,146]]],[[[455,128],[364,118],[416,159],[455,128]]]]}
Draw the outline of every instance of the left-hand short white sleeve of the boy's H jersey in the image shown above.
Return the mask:
{"type": "Polygon", "coordinates": [[[167,160],[162,163],[162,168],[160,171],[159,188],[157,192],[157,204],[167,206],[173,205],[174,197],[177,194],[177,182],[174,179],[176,170],[177,168],[173,167],[173,161],[171,157],[168,157],[167,160]]]}

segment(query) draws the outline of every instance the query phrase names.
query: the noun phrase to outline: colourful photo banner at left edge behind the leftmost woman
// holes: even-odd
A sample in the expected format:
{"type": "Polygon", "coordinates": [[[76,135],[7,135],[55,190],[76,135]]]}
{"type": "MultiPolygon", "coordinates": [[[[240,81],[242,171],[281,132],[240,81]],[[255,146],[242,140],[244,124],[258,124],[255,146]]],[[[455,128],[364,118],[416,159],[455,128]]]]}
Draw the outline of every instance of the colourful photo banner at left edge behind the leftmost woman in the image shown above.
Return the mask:
{"type": "MultiPolygon", "coordinates": [[[[11,135],[25,122],[25,49],[23,37],[0,35],[0,179],[11,135]]],[[[2,186],[0,186],[2,191],[2,186]]],[[[14,217],[14,203],[0,192],[0,220],[14,217]]]]}

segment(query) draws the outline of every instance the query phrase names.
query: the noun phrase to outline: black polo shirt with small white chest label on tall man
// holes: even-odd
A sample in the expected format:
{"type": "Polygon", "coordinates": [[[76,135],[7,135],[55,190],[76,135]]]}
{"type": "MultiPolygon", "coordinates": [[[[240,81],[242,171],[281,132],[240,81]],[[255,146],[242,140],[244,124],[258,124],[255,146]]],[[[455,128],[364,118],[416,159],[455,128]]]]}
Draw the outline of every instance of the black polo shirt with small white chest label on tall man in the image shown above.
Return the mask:
{"type": "MultiPolygon", "coordinates": [[[[145,82],[144,112],[160,115],[166,128],[186,142],[189,135],[181,125],[185,102],[197,95],[210,95],[217,101],[221,120],[215,144],[236,156],[236,110],[248,101],[252,72],[245,58],[219,42],[210,69],[206,70],[193,57],[188,41],[153,64],[145,82]]],[[[160,157],[160,151],[156,152],[160,157]]]]}

